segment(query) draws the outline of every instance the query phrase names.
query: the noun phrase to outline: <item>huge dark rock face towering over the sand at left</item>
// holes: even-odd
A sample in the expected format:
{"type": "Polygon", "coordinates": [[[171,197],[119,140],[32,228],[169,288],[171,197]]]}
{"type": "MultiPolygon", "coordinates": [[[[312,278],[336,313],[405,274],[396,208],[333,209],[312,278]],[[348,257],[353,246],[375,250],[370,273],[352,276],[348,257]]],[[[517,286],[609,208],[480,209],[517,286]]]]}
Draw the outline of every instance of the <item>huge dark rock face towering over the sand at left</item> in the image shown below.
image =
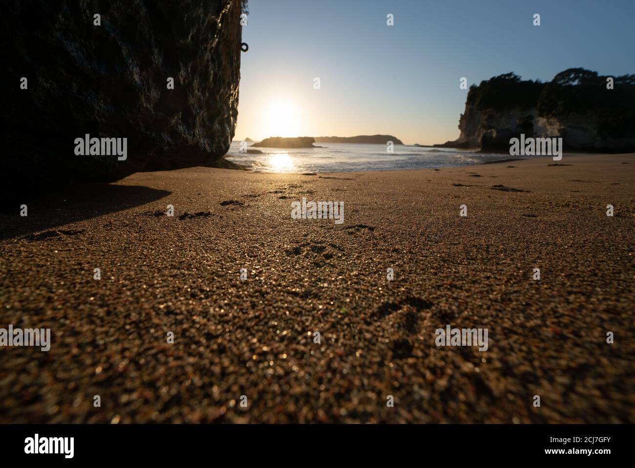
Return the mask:
{"type": "Polygon", "coordinates": [[[2,146],[18,188],[3,192],[27,200],[68,182],[215,165],[236,126],[240,15],[239,0],[11,1],[2,146]],[[126,138],[126,160],[76,155],[86,134],[126,138]]]}

